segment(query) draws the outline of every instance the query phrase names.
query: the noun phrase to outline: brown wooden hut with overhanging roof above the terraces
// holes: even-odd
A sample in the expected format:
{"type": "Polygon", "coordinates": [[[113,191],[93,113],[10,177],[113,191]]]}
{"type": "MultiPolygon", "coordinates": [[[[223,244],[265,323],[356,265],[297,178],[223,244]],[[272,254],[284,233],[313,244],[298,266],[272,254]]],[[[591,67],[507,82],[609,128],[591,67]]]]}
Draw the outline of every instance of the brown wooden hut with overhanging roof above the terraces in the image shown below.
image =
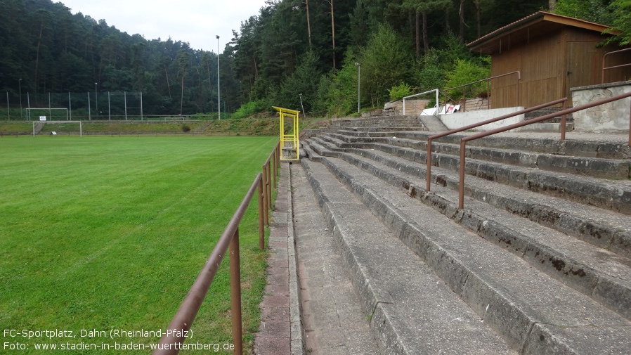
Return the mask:
{"type": "MultiPolygon", "coordinates": [[[[491,56],[491,107],[531,107],[568,97],[570,88],[601,84],[603,57],[622,49],[597,46],[610,34],[605,25],[539,11],[468,44],[491,56]]],[[[606,56],[606,67],[631,63],[631,51],[606,56]]],[[[631,78],[631,66],[606,70],[604,82],[631,78]]]]}

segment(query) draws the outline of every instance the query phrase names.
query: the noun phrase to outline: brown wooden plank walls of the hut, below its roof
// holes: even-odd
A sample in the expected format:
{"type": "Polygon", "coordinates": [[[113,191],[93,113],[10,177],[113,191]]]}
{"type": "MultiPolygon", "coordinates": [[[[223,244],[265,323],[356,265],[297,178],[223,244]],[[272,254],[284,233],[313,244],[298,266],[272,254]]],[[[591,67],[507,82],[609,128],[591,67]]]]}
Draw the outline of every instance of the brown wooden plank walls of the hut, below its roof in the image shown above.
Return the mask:
{"type": "MultiPolygon", "coordinates": [[[[620,49],[618,46],[597,47],[602,40],[597,32],[566,27],[530,39],[528,43],[504,46],[502,53],[493,53],[491,76],[519,70],[521,83],[518,91],[516,75],[493,79],[492,107],[531,107],[563,97],[570,99],[568,105],[571,106],[571,87],[600,84],[602,57],[608,51],[620,49]]],[[[507,39],[504,41],[510,43],[507,39]]],[[[606,59],[606,66],[626,63],[631,63],[631,51],[606,59]]],[[[631,66],[605,72],[605,82],[630,79],[631,66]]]]}

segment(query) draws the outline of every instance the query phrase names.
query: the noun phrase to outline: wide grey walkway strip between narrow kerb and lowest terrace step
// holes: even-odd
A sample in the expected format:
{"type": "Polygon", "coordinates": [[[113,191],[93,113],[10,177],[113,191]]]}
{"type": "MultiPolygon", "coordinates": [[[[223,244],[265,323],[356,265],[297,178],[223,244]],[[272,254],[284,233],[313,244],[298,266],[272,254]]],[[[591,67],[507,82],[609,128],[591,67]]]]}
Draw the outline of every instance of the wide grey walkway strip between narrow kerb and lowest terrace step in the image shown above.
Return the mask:
{"type": "Polygon", "coordinates": [[[294,240],[305,333],[306,352],[300,354],[378,355],[379,347],[364,318],[362,304],[353,291],[344,260],[334,245],[304,169],[300,164],[287,166],[291,170],[294,240]]]}

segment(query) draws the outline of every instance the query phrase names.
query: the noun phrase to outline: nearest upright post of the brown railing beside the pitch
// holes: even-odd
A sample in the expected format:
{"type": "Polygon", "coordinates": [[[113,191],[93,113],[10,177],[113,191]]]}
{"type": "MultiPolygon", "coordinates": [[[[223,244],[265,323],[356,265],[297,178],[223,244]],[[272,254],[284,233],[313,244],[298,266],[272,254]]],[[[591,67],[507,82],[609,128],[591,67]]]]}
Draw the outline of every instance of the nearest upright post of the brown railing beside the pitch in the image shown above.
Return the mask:
{"type": "Polygon", "coordinates": [[[241,330],[241,267],[239,257],[239,228],[230,240],[230,317],[232,318],[233,354],[243,354],[241,330]]]}

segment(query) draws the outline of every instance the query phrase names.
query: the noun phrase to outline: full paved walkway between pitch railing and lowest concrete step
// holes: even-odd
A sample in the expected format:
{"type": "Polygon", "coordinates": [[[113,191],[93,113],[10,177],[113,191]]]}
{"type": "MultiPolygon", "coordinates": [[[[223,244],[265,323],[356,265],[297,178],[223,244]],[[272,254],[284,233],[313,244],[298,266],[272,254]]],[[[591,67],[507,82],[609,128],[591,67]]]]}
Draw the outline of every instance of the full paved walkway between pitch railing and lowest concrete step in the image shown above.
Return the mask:
{"type": "Polygon", "coordinates": [[[269,249],[254,354],[379,354],[299,163],[281,165],[269,249]]]}

